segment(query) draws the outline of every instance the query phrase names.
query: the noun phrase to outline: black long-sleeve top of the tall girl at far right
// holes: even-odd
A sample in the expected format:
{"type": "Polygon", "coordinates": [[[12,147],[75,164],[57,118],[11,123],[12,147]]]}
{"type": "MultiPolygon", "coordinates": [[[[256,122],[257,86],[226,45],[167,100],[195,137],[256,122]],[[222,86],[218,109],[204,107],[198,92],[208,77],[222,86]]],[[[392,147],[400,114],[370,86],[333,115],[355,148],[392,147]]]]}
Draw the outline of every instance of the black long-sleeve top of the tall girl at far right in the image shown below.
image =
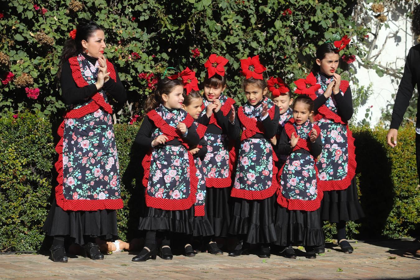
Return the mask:
{"type": "MultiPolygon", "coordinates": [[[[324,73],[320,73],[321,80],[326,81],[327,79],[331,79],[332,76],[327,76],[324,73]]],[[[352,100],[352,90],[350,89],[350,86],[347,88],[346,92],[344,92],[344,95],[342,95],[340,92],[338,94],[332,93],[333,98],[336,101],[337,106],[337,114],[343,119],[343,120],[350,120],[353,115],[353,100],[352,100]]],[[[327,98],[325,98],[324,94],[321,94],[314,100],[314,111],[317,112],[318,109],[325,104],[327,101],[327,98]]]]}

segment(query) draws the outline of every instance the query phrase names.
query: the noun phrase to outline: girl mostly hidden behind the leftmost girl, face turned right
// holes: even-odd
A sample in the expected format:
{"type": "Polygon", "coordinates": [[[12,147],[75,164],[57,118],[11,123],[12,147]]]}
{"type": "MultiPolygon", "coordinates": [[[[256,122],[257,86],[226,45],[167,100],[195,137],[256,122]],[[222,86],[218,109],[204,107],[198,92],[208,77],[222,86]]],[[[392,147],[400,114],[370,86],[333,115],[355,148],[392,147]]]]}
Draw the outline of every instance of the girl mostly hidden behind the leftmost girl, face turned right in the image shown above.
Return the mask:
{"type": "MultiPolygon", "coordinates": [[[[184,102],[182,103],[182,108],[192,116],[194,119],[193,126],[197,128],[197,133],[200,137],[199,144],[197,146],[190,147],[189,152],[194,155],[194,163],[197,168],[197,178],[199,179],[199,183],[197,186],[197,200],[194,205],[195,212],[202,212],[203,215],[201,216],[194,216],[192,217],[191,224],[192,224],[192,236],[195,238],[203,237],[206,238],[208,236],[213,236],[214,231],[212,226],[210,225],[210,221],[207,218],[207,213],[205,211],[205,199],[206,199],[206,178],[204,173],[204,168],[202,167],[202,160],[204,159],[205,155],[207,154],[207,141],[204,139],[204,133],[207,129],[206,126],[197,123],[197,119],[200,117],[202,112],[202,103],[203,98],[201,94],[195,90],[184,95],[184,102]]],[[[191,246],[191,243],[187,243],[185,245],[191,246]]],[[[194,251],[190,251],[187,256],[193,256],[194,251]]]]}

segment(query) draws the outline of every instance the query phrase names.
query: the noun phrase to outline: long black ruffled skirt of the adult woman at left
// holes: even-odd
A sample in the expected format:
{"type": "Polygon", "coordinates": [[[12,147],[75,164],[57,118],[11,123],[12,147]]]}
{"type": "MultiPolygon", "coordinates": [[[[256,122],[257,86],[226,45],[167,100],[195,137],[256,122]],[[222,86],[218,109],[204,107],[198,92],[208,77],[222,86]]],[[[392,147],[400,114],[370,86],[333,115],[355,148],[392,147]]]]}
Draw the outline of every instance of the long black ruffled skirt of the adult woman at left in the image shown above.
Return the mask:
{"type": "Polygon", "coordinates": [[[54,199],[42,230],[49,236],[70,236],[80,245],[86,243],[83,236],[116,240],[117,211],[64,211],[54,199]]]}

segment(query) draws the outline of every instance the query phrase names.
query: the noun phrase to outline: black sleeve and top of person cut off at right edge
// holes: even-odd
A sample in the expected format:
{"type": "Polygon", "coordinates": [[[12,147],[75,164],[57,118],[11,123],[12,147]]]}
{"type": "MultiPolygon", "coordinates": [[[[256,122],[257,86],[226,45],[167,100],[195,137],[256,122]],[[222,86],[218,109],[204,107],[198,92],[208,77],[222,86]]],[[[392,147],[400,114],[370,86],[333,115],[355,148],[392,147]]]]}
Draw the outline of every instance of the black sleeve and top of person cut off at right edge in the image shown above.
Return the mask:
{"type": "MultiPolygon", "coordinates": [[[[405,111],[413,96],[414,87],[420,81],[420,44],[411,47],[405,61],[404,74],[399,82],[398,91],[395,97],[394,110],[392,110],[390,128],[398,129],[404,118],[405,111]]],[[[417,123],[416,127],[420,128],[419,122],[420,102],[417,102],[417,123]]]]}

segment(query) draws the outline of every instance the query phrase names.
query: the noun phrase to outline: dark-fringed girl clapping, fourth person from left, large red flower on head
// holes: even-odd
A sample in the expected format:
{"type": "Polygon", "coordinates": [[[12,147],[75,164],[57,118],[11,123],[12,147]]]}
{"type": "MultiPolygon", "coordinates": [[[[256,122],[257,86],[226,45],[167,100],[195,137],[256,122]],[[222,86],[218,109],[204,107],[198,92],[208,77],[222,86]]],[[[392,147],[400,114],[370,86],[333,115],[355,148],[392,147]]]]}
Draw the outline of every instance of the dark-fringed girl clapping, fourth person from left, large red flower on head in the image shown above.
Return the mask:
{"type": "Polygon", "coordinates": [[[207,216],[214,230],[213,236],[205,240],[210,254],[223,254],[215,242],[215,237],[226,237],[230,224],[229,204],[232,186],[232,170],[235,161],[234,141],[228,137],[228,117],[234,99],[223,94],[226,89],[224,65],[226,58],[210,55],[205,63],[208,75],[204,80],[204,100],[199,123],[207,126],[205,140],[207,154],[202,160],[206,174],[207,216]]]}

